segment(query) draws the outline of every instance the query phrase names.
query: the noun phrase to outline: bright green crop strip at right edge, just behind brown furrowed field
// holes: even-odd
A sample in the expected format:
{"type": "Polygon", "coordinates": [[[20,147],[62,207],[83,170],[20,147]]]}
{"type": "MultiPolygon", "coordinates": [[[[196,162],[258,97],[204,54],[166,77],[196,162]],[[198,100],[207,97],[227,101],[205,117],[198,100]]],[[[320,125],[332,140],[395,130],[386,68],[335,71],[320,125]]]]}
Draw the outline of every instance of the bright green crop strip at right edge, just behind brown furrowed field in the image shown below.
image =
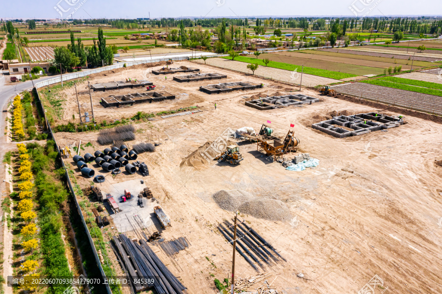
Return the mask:
{"type": "Polygon", "coordinates": [[[361,82],[388,87],[388,88],[394,88],[399,90],[406,90],[416,93],[442,97],[442,91],[439,90],[439,88],[441,88],[441,85],[438,83],[432,83],[420,80],[401,79],[396,77],[382,77],[373,80],[362,80],[361,82]]]}

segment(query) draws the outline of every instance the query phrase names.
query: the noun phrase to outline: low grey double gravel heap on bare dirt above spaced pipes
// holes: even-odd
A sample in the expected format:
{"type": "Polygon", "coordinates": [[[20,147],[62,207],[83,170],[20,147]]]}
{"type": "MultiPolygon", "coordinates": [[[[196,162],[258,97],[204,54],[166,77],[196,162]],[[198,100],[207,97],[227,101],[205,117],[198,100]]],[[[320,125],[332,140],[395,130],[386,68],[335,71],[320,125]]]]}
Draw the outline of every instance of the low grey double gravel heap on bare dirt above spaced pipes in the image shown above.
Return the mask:
{"type": "Polygon", "coordinates": [[[212,198],[222,209],[243,214],[249,214],[256,218],[268,220],[290,220],[290,212],[287,206],[279,200],[267,197],[256,197],[242,190],[220,190],[212,195],[212,198]]]}

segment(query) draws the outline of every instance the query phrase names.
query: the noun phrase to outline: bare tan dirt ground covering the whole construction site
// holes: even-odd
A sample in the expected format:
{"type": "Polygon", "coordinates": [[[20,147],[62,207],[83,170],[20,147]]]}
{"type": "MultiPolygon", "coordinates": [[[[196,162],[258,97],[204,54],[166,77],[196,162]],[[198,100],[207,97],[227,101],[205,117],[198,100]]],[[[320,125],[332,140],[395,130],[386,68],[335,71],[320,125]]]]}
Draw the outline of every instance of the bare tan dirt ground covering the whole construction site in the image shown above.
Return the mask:
{"type": "MultiPolygon", "coordinates": [[[[224,72],[204,65],[200,68],[201,72],[224,72]]],[[[136,70],[138,76],[143,70],[136,70]]],[[[258,80],[225,73],[229,78],[221,81],[258,80]]],[[[115,79],[118,75],[114,75],[115,79]]],[[[378,275],[384,286],[376,293],[440,292],[442,167],[435,160],[441,160],[441,124],[407,116],[406,124],[388,132],[338,139],[313,130],[310,125],[331,118],[336,112],[350,115],[381,110],[318,96],[313,90],[303,89],[302,94],[323,101],[304,107],[259,111],[244,105],[243,96],[251,92],[208,95],[196,89],[210,81],[177,83],[161,78],[157,80],[153,76],[157,87],[161,89],[164,85],[166,91],[175,93],[179,99],[127,108],[96,107],[96,113],[100,118],[119,118],[132,116],[138,110],[174,109],[191,104],[202,106],[203,112],[136,124],[139,132],[151,129],[160,135],[162,144],[156,151],[138,157],[147,164],[150,175],[142,178],[138,173],[120,174],[112,179],[110,173],[106,173],[104,175],[109,176],[102,184],[102,191],[107,192],[116,183],[144,179],[171,220],[172,227],[166,228],[163,236],[166,240],[186,237],[192,244],[177,255],[176,267],[163,253],[158,253],[189,293],[218,293],[214,279],[223,280],[231,270],[232,246],[216,226],[224,219],[231,220],[234,213],[222,210],[211,197],[221,189],[247,190],[257,197],[279,199],[289,208],[292,219],[287,222],[239,216],[240,221],[245,219],[287,259],[286,263],[268,268],[273,273],[268,282],[276,278],[272,288],[287,294],[357,293],[378,275]],[[178,96],[179,93],[190,96],[178,96]],[[226,129],[247,126],[259,131],[267,120],[272,122],[270,127],[278,136],[285,136],[290,124],[294,124],[292,129],[300,139],[300,152],[318,159],[319,166],[301,172],[285,170],[270,157],[262,157],[256,143],[239,143],[244,160],[238,165],[217,164],[216,160],[207,162],[198,156],[205,151],[201,146],[217,140],[226,129]],[[304,278],[297,277],[298,273],[303,273],[304,278]]],[[[93,79],[94,82],[109,80],[113,80],[111,74],[93,79]]],[[[270,85],[273,86],[272,82],[270,85]]],[[[285,93],[284,90],[290,89],[284,85],[282,89],[265,87],[257,92],[285,93]]],[[[111,93],[114,91],[106,95],[111,93]]],[[[100,94],[103,93],[94,93],[93,97],[100,94]]],[[[76,107],[75,96],[72,92],[70,95],[72,101],[66,109],[66,118],[76,107]]],[[[80,97],[82,104],[88,102],[88,95],[80,97]]],[[[137,139],[129,142],[131,146],[145,140],[139,132],[137,139]]],[[[84,143],[91,142],[93,146],[85,147],[82,155],[109,147],[99,146],[97,135],[97,132],[55,134],[62,147],[73,141],[78,143],[80,139],[84,143]]],[[[291,156],[294,155],[296,153],[291,156]]],[[[81,176],[72,165],[72,158],[65,162],[74,170],[82,188],[91,184],[91,179],[81,176]]],[[[135,197],[138,192],[134,193],[135,197]]],[[[118,234],[115,225],[111,223],[106,227],[106,241],[112,234],[118,234]]],[[[160,252],[160,248],[154,251],[160,252]]],[[[111,253],[109,247],[108,252],[111,253]]],[[[117,274],[121,274],[117,262],[112,260],[112,263],[118,268],[117,274]]],[[[244,278],[254,274],[237,254],[235,275],[244,278]]],[[[124,292],[129,293],[127,288],[124,292]]]]}

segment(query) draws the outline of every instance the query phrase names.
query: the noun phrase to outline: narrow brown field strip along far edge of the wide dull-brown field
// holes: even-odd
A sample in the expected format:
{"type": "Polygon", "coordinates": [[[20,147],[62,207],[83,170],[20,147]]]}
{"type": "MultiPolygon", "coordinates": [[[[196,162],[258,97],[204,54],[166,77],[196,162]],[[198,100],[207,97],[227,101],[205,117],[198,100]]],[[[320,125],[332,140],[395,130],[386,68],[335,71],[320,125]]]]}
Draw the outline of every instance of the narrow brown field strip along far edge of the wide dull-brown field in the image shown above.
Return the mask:
{"type": "MultiPolygon", "coordinates": [[[[350,53],[348,51],[339,52],[339,49],[337,49],[336,52],[331,52],[327,49],[327,50],[302,50],[302,51],[299,51],[299,53],[382,62],[382,63],[388,63],[393,67],[397,66],[397,65],[410,65],[411,64],[411,60],[408,60],[408,59],[391,58],[391,56],[390,57],[380,57],[380,56],[371,56],[371,55],[359,55],[359,54],[355,54],[355,52],[350,52],[350,53]]],[[[351,62],[355,62],[355,61],[351,61],[351,62]]],[[[375,66],[375,65],[372,65],[372,66],[375,66]]],[[[430,66],[434,66],[434,63],[429,62],[429,61],[419,61],[419,60],[414,59],[414,62],[413,62],[414,68],[415,67],[430,67],[430,66]]]]}

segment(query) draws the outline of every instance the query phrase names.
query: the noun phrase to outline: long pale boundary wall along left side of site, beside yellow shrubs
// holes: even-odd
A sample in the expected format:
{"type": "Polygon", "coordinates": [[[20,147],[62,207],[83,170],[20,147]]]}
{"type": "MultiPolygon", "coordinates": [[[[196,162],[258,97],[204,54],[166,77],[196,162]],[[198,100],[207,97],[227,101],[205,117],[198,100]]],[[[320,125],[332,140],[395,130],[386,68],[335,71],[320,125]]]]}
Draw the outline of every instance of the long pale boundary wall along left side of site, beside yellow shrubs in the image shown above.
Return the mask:
{"type": "MultiPolygon", "coordinates": [[[[58,78],[58,80],[59,80],[59,78],[58,78]]],[[[64,80],[64,77],[63,77],[63,80],[64,80]]],[[[40,95],[38,94],[37,89],[34,88],[34,91],[37,94],[38,101],[41,104],[40,95]]],[[[49,123],[48,118],[46,117],[46,113],[44,111],[44,108],[43,108],[43,114],[44,114],[44,117],[45,117],[45,120],[46,120],[46,125],[48,126],[48,132],[49,132],[49,134],[51,134],[52,138],[54,139],[57,152],[61,156],[60,149],[58,147],[58,143],[57,143],[57,141],[56,141],[56,139],[54,137],[54,133],[52,132],[52,128],[51,128],[51,124],[49,123]]],[[[93,254],[95,256],[95,261],[97,262],[98,268],[100,269],[100,272],[101,272],[102,276],[106,277],[104,269],[101,266],[100,258],[98,257],[97,249],[95,248],[94,241],[92,240],[92,237],[90,236],[89,230],[87,229],[87,225],[86,225],[86,221],[84,220],[82,208],[80,207],[80,203],[77,200],[77,194],[75,193],[74,188],[72,187],[71,178],[69,177],[69,172],[68,172],[68,170],[66,168],[66,165],[64,164],[63,160],[61,160],[61,164],[62,164],[62,166],[64,168],[64,172],[66,173],[66,181],[67,181],[67,184],[69,186],[69,190],[71,191],[72,195],[74,196],[75,205],[77,206],[78,213],[80,214],[80,218],[82,219],[84,229],[86,230],[87,239],[89,240],[90,246],[92,247],[92,251],[93,251],[93,254]]],[[[106,290],[107,290],[108,294],[112,294],[111,288],[109,287],[109,284],[106,284],[106,290]]]]}

